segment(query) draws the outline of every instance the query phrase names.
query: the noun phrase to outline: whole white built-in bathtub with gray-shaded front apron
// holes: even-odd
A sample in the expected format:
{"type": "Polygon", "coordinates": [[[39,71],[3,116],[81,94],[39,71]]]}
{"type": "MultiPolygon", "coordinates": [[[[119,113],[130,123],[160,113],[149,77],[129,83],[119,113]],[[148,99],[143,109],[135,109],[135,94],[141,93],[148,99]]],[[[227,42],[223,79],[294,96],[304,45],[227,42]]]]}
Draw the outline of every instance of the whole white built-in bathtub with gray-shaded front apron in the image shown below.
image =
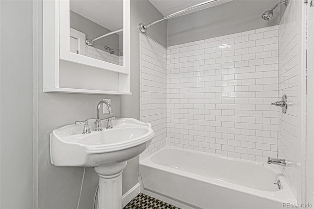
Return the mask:
{"type": "Polygon", "coordinates": [[[139,167],[142,193],[183,209],[282,209],[283,203],[296,204],[277,165],[166,146],[139,167]]]}

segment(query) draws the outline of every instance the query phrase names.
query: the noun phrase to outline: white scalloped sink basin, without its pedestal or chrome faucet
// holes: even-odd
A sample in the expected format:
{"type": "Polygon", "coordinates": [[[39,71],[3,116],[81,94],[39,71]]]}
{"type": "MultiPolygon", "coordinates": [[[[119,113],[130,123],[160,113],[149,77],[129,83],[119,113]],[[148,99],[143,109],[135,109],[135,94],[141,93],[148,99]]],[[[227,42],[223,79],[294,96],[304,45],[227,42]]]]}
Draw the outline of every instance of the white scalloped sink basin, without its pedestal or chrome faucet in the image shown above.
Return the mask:
{"type": "MultiPolygon", "coordinates": [[[[95,119],[89,126],[94,130],[95,119]]],[[[155,133],[150,123],[133,118],[112,119],[113,129],[82,134],[84,124],[68,125],[50,135],[51,163],[55,166],[105,166],[141,154],[155,133]]],[[[102,121],[106,127],[107,120],[102,121]]]]}

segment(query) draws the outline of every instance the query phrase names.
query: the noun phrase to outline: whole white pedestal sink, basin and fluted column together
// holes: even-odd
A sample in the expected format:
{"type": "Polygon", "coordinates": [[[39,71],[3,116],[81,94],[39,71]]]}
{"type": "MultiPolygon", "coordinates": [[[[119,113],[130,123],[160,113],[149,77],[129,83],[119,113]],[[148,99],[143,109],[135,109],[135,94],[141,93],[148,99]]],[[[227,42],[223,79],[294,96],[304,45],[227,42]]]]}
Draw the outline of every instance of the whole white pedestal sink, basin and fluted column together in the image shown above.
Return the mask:
{"type": "MultiPolygon", "coordinates": [[[[92,128],[95,119],[89,120],[92,128]]],[[[113,129],[82,134],[82,125],[68,125],[50,134],[55,166],[95,167],[99,175],[98,209],[121,209],[121,178],[127,160],[141,154],[155,133],[150,123],[132,118],[112,119],[113,129]]],[[[106,120],[102,121],[105,127],[106,120]]]]}

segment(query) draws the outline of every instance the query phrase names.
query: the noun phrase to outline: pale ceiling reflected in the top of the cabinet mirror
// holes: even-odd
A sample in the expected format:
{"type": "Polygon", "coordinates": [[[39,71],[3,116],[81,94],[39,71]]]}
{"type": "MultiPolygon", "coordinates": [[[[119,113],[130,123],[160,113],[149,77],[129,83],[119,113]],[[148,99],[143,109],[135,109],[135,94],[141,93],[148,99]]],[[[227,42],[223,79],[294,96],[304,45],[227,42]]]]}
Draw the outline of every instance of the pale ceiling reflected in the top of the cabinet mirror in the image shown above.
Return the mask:
{"type": "Polygon", "coordinates": [[[111,31],[123,28],[122,0],[70,0],[70,10],[111,31]]]}

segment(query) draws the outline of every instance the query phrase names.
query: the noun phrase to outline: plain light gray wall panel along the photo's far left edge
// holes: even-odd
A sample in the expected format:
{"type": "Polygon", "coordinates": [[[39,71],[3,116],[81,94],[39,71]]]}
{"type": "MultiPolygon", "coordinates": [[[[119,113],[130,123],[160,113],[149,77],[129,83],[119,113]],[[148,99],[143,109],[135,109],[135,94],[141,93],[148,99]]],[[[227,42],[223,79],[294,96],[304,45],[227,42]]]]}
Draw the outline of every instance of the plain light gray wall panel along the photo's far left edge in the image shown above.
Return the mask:
{"type": "Polygon", "coordinates": [[[32,1],[0,1],[0,208],[33,208],[32,1]]]}

